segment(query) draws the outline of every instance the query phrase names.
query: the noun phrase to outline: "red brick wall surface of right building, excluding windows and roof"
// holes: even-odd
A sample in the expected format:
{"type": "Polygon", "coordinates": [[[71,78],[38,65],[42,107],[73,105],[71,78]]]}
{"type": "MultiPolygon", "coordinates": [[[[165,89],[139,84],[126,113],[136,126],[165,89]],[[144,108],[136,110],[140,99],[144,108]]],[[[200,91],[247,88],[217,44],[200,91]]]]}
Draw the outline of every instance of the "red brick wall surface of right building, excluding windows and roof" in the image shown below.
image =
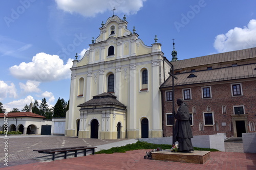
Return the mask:
{"type": "MultiPolygon", "coordinates": [[[[175,103],[178,98],[182,99],[182,89],[191,89],[191,100],[184,100],[188,105],[189,112],[192,113],[193,106],[196,107],[196,114],[193,114],[194,126],[191,126],[193,130],[193,135],[211,135],[217,133],[225,133],[227,137],[234,136],[232,117],[233,106],[244,106],[245,114],[248,114],[248,124],[252,121],[255,125],[256,122],[256,80],[250,81],[237,81],[241,83],[243,96],[232,97],[231,95],[231,82],[220,82],[219,84],[198,84],[197,86],[185,87],[179,86],[175,87],[175,103]],[[211,87],[211,99],[202,99],[202,89],[203,86],[211,87]],[[226,106],[226,115],[222,114],[222,105],[226,106]],[[204,126],[204,130],[199,130],[199,123],[203,123],[203,112],[206,112],[206,107],[210,106],[210,112],[214,113],[215,123],[219,124],[219,130],[217,131],[216,125],[214,126],[204,126]],[[222,126],[222,123],[226,123],[226,126],[222,126]],[[230,131],[231,126],[231,131],[230,131]]],[[[163,136],[172,136],[173,128],[172,126],[166,126],[165,124],[165,113],[172,113],[172,102],[165,102],[165,91],[172,90],[164,89],[162,90],[162,101],[163,101],[163,136]]],[[[178,105],[175,104],[175,109],[177,110],[178,105]]],[[[248,126],[248,132],[249,126],[248,126]]],[[[253,131],[255,132],[255,131],[253,131]]]]}

